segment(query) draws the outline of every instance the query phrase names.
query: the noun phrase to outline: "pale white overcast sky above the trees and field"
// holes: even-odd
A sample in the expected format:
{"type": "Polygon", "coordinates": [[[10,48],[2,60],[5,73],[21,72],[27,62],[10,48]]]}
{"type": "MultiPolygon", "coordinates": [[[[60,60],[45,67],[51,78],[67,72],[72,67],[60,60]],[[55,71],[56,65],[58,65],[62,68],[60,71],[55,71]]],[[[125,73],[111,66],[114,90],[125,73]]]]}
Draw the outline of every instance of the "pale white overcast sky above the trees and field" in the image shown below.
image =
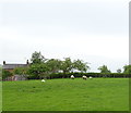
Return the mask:
{"type": "Polygon", "coordinates": [[[84,60],[90,72],[129,63],[128,0],[27,1],[0,2],[0,64],[26,63],[34,51],[84,60]]]}

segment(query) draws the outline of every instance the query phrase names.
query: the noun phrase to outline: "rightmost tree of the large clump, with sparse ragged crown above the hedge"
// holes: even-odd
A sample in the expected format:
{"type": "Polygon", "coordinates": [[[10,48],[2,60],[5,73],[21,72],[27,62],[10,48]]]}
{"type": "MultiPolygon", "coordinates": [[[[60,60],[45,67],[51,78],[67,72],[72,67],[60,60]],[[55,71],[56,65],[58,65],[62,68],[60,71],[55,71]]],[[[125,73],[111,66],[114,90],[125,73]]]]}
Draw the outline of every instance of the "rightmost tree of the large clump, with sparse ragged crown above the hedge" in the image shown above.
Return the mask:
{"type": "Polygon", "coordinates": [[[87,65],[86,62],[83,62],[82,60],[74,60],[73,62],[73,68],[83,72],[86,72],[90,66],[87,65]]]}

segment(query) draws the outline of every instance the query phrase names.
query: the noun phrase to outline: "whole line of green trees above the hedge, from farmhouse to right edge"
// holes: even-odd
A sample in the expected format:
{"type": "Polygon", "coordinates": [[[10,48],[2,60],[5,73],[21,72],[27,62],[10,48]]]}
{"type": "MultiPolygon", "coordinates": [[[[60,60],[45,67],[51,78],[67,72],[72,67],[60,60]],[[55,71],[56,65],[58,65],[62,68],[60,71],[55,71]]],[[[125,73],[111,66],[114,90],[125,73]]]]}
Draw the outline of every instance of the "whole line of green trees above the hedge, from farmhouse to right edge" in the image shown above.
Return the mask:
{"type": "MultiPolygon", "coordinates": [[[[13,73],[2,71],[2,78],[4,79],[14,74],[25,75],[28,78],[45,78],[56,74],[59,74],[59,76],[61,74],[62,77],[67,77],[67,74],[70,75],[74,72],[87,73],[88,70],[88,63],[83,60],[78,59],[72,61],[71,58],[64,58],[63,60],[46,59],[40,52],[35,51],[32,54],[28,66],[16,67],[13,73]]],[[[99,66],[98,70],[104,74],[111,73],[107,65],[99,66]]],[[[131,74],[131,65],[124,65],[123,72],[118,68],[117,73],[131,74]]]]}

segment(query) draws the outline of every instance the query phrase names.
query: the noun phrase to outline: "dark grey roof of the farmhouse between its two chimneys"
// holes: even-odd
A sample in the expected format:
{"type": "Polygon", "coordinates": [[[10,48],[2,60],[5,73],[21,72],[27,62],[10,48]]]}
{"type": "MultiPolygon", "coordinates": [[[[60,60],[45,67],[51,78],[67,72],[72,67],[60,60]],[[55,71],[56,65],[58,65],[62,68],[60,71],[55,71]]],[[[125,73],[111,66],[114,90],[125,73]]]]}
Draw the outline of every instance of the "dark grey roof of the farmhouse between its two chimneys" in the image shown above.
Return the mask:
{"type": "Polygon", "coordinates": [[[25,67],[27,64],[3,64],[3,70],[14,70],[15,67],[25,67]]]}

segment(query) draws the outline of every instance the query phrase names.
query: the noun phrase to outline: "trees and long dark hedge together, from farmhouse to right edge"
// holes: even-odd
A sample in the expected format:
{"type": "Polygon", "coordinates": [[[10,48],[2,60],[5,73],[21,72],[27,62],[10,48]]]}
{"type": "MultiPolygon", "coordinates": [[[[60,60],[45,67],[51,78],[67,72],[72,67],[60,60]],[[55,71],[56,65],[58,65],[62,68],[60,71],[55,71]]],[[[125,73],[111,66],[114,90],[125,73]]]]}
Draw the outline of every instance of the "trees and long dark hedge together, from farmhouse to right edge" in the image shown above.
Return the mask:
{"type": "Polygon", "coordinates": [[[131,65],[126,65],[123,74],[121,70],[117,70],[118,73],[111,73],[106,65],[98,67],[100,73],[86,73],[90,66],[82,60],[72,61],[71,58],[64,58],[63,61],[58,59],[45,59],[40,52],[34,52],[32,54],[31,64],[28,67],[17,67],[14,70],[14,74],[28,75],[28,79],[39,78],[68,78],[72,74],[75,77],[130,77],[131,65]],[[73,73],[79,71],[80,73],[73,73]],[[62,72],[62,73],[60,73],[62,72]]]}

